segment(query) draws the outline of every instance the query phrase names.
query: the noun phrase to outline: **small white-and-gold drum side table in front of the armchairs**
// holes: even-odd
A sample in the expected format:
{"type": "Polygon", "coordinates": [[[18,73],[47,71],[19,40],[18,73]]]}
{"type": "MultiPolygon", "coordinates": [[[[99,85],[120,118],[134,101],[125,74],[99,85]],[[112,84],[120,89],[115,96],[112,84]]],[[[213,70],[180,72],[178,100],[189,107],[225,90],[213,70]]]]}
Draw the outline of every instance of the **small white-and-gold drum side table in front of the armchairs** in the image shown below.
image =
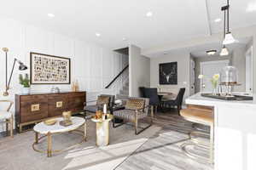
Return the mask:
{"type": "Polygon", "coordinates": [[[113,115],[108,115],[106,120],[91,118],[92,122],[96,122],[96,145],[107,146],[109,144],[109,122],[113,119],[113,115]]]}

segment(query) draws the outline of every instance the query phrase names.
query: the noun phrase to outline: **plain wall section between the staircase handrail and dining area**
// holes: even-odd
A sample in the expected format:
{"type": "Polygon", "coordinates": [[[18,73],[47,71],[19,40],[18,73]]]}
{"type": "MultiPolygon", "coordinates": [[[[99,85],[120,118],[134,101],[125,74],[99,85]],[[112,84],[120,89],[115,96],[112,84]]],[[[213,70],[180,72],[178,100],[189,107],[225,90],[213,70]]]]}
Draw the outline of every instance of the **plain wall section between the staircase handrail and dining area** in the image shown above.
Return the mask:
{"type": "Polygon", "coordinates": [[[139,97],[139,87],[150,86],[150,59],[135,45],[129,47],[129,96],[139,97]]]}

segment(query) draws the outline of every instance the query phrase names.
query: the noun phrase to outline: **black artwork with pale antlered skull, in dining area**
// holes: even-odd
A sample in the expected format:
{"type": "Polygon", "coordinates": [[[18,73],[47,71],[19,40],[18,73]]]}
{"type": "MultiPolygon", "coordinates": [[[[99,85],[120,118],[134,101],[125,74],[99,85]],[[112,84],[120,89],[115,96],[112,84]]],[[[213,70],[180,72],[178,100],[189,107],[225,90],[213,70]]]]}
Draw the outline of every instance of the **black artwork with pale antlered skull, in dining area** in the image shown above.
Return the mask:
{"type": "Polygon", "coordinates": [[[177,84],[177,62],[159,65],[159,83],[177,84]]]}

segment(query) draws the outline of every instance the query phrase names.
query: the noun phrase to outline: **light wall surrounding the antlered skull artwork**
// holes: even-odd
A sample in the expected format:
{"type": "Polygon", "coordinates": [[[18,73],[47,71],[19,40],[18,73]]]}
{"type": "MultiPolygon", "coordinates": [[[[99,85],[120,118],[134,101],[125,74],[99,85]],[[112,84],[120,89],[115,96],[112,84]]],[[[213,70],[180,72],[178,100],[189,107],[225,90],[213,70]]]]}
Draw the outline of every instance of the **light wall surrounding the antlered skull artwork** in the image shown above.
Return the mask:
{"type": "Polygon", "coordinates": [[[189,96],[189,63],[190,54],[187,52],[155,56],[150,59],[150,87],[186,88],[184,99],[189,96]],[[177,85],[159,85],[159,64],[177,61],[177,85]]]}

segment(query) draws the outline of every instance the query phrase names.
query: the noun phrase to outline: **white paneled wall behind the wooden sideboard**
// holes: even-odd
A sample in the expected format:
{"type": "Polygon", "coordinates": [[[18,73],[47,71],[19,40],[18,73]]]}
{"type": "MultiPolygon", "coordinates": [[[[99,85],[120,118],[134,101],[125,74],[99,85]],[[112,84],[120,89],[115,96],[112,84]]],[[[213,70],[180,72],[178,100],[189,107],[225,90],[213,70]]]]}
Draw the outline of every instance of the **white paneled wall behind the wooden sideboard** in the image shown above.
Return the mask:
{"type": "MultiPolygon", "coordinates": [[[[18,75],[30,72],[29,70],[18,71],[16,65],[10,85],[10,95],[3,97],[5,57],[2,48],[4,47],[9,48],[9,72],[15,58],[29,66],[30,52],[71,58],[72,80],[79,81],[80,90],[87,91],[87,100],[89,101],[96,99],[98,94],[117,94],[126,81],[127,76],[121,77],[111,88],[104,89],[113,77],[128,64],[127,55],[117,54],[108,48],[5,18],[0,18],[0,37],[0,99],[14,100],[15,94],[20,93],[21,88],[18,83],[18,75]]],[[[70,85],[55,86],[61,88],[62,91],[71,89],[70,85]]],[[[49,92],[51,87],[52,85],[32,85],[32,92],[49,92]]]]}

